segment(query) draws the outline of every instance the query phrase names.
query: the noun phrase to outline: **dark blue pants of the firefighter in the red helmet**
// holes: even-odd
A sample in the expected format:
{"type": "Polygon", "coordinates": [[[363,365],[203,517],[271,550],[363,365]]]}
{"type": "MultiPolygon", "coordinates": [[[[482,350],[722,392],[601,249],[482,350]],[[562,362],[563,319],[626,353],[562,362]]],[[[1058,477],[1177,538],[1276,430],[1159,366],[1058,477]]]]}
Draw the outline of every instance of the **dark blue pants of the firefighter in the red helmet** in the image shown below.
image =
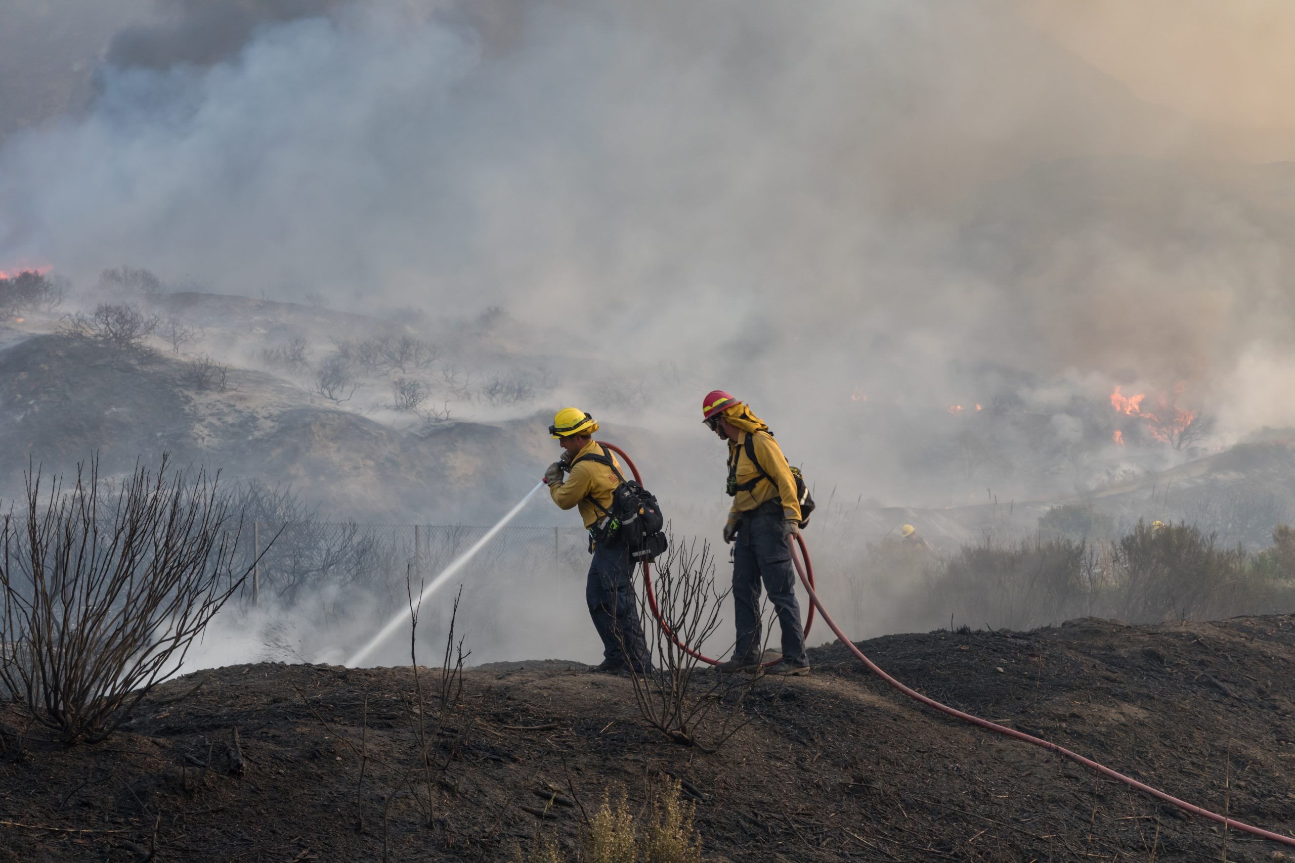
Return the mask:
{"type": "Polygon", "coordinates": [[[796,574],[791,550],[782,538],[782,510],[746,516],[733,546],[733,609],[737,622],[737,659],[760,656],[760,582],[782,626],[782,659],[793,665],[808,665],[805,635],[800,629],[796,603],[796,574]]]}

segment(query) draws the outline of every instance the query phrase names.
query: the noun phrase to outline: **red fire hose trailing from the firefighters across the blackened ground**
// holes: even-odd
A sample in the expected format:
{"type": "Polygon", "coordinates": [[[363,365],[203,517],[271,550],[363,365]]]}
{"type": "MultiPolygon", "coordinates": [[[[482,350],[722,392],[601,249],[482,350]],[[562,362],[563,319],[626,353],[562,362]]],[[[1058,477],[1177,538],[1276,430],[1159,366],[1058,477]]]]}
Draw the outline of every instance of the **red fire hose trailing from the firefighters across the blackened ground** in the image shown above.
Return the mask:
{"type": "MultiPolygon", "coordinates": [[[[602,444],[602,441],[598,441],[598,442],[602,444]]],[[[625,463],[629,464],[629,470],[633,471],[635,479],[640,484],[642,484],[642,477],[638,475],[638,468],[635,467],[633,461],[631,461],[629,455],[627,455],[623,449],[620,449],[619,446],[614,446],[611,444],[602,444],[602,445],[606,446],[607,449],[613,450],[614,453],[618,453],[622,458],[624,458],[625,463]]],[[[1202,809],[1199,806],[1195,806],[1193,803],[1186,802],[1185,800],[1178,800],[1177,797],[1175,797],[1172,794],[1167,794],[1163,791],[1159,791],[1158,788],[1153,788],[1151,785],[1147,785],[1146,783],[1141,783],[1137,779],[1133,779],[1132,776],[1125,776],[1124,774],[1121,774],[1119,771],[1115,771],[1115,770],[1111,770],[1110,767],[1107,767],[1105,765],[1099,765],[1096,761],[1093,761],[1092,758],[1085,758],[1084,756],[1079,754],[1077,752],[1071,752],[1070,749],[1067,749],[1064,747],[1061,747],[1061,745],[1058,745],[1055,743],[1052,743],[1050,740],[1044,740],[1042,737],[1036,737],[1036,736],[1028,735],[1028,734],[1026,734],[1023,731],[1017,731],[1015,728],[1009,728],[1009,727],[1001,726],[1001,725],[998,725],[996,722],[989,722],[988,719],[982,719],[980,717],[971,716],[970,713],[963,713],[962,710],[956,710],[954,708],[951,708],[947,704],[940,704],[935,699],[930,699],[930,697],[922,695],[917,690],[912,690],[912,688],[904,686],[903,683],[900,683],[899,681],[896,681],[895,678],[892,678],[890,674],[887,674],[886,672],[883,672],[881,669],[881,666],[878,666],[875,662],[873,662],[870,659],[868,659],[864,655],[864,652],[861,650],[859,650],[859,647],[856,647],[855,643],[851,642],[850,638],[847,638],[843,631],[840,631],[840,628],[837,626],[837,622],[831,618],[831,615],[829,615],[828,609],[822,607],[822,602],[818,599],[818,594],[815,593],[813,564],[809,563],[809,550],[805,547],[804,538],[798,533],[796,534],[796,542],[793,543],[791,538],[789,537],[787,538],[787,547],[791,551],[791,560],[793,560],[793,563],[796,567],[796,574],[800,576],[800,584],[804,585],[805,591],[809,594],[811,606],[809,606],[809,613],[805,617],[805,634],[807,635],[809,634],[809,624],[813,621],[813,612],[817,608],[818,613],[822,615],[824,622],[828,624],[828,629],[830,629],[837,635],[837,638],[840,640],[842,644],[844,644],[847,648],[850,648],[850,652],[853,653],[855,657],[860,662],[862,662],[864,666],[869,672],[872,672],[873,674],[875,674],[877,677],[879,677],[881,679],[883,679],[891,687],[899,690],[900,692],[903,692],[908,697],[913,699],[914,701],[921,701],[922,704],[925,704],[929,708],[939,710],[940,713],[945,713],[945,714],[948,714],[948,716],[951,716],[951,717],[953,717],[956,719],[961,719],[962,722],[970,722],[971,725],[975,725],[975,726],[979,726],[982,728],[985,728],[987,731],[995,731],[997,734],[1001,734],[1001,735],[1005,735],[1005,736],[1009,736],[1009,737],[1014,737],[1017,740],[1022,740],[1022,741],[1028,743],[1031,745],[1040,747],[1042,749],[1048,749],[1049,752],[1055,752],[1057,754],[1059,754],[1059,756],[1062,756],[1064,758],[1070,758],[1074,762],[1077,762],[1080,765],[1084,765],[1085,767],[1096,770],[1097,772],[1102,774],[1103,776],[1109,776],[1110,779],[1115,779],[1118,781],[1124,783],[1125,785],[1131,785],[1132,788],[1137,788],[1138,791],[1141,791],[1141,792],[1143,792],[1146,794],[1151,794],[1153,797],[1163,800],[1167,803],[1172,803],[1173,806],[1177,806],[1178,809],[1181,809],[1184,811],[1188,811],[1188,813],[1191,813],[1193,815],[1199,815],[1200,818],[1207,818],[1207,819],[1210,819],[1212,822],[1222,824],[1225,829],[1228,829],[1228,828],[1238,829],[1238,831],[1242,831],[1244,833],[1251,833],[1251,835],[1259,836],[1261,838],[1272,840],[1273,842],[1281,842],[1282,845],[1290,845],[1290,846],[1295,847],[1295,837],[1282,836],[1281,833],[1274,833],[1272,831],[1265,831],[1261,827],[1252,827],[1251,824],[1246,824],[1244,822],[1238,822],[1238,820],[1235,820],[1233,818],[1228,818],[1225,815],[1220,815],[1219,813],[1212,813],[1208,809],[1202,809]],[[804,565],[802,565],[802,563],[800,563],[800,555],[796,555],[796,546],[798,545],[800,547],[800,555],[804,556],[804,565]]],[[[664,631],[670,637],[670,639],[672,642],[675,642],[675,644],[680,650],[686,651],[689,656],[693,656],[693,657],[695,657],[695,659],[698,659],[698,660],[701,660],[703,662],[710,662],[711,665],[715,665],[716,660],[710,659],[708,656],[702,656],[701,653],[698,653],[697,651],[694,651],[693,648],[690,648],[688,644],[681,643],[675,637],[675,633],[671,631],[671,629],[666,624],[666,621],[662,618],[660,611],[657,608],[657,595],[653,593],[651,577],[649,574],[649,564],[648,564],[648,562],[644,562],[644,586],[646,587],[646,593],[648,593],[648,604],[651,606],[653,617],[657,618],[657,624],[660,625],[662,631],[664,631]]]]}

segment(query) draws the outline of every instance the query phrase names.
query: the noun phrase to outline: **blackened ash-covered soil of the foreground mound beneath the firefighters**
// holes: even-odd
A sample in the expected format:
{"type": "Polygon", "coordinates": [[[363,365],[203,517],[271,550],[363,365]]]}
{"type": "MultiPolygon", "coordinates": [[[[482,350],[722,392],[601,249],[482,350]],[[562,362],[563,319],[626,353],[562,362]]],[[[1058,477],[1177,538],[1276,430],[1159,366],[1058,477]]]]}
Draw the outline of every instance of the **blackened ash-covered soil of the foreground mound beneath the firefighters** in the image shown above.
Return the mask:
{"type": "MultiPolygon", "coordinates": [[[[1081,620],[861,647],[954,706],[1237,819],[1295,828],[1295,617],[1081,620]]],[[[35,728],[18,740],[10,705],[0,860],[369,860],[385,833],[392,860],[504,860],[541,825],[571,842],[581,806],[609,787],[641,805],[663,774],[697,798],[710,859],[1282,859],[1273,844],[934,714],[840,646],[812,660],[811,677],[760,681],[741,705],[749,723],[714,754],[645,727],[628,678],[562,661],[469,669],[434,747],[448,766],[409,781],[409,669],[190,675],[95,747],[35,728]],[[414,797],[429,788],[430,825],[414,797]],[[544,815],[553,789],[562,798],[544,815]]],[[[430,697],[439,672],[421,677],[430,697]]]]}

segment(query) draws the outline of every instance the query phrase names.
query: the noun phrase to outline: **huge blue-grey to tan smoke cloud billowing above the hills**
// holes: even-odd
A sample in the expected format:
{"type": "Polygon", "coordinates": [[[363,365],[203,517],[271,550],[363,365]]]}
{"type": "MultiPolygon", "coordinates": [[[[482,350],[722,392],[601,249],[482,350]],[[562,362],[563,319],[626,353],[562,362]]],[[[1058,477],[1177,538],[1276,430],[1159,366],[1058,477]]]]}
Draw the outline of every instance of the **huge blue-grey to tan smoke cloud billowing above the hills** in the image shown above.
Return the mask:
{"type": "Polygon", "coordinates": [[[1295,175],[1256,158],[1295,147],[1131,91],[1071,50],[1079,25],[1008,3],[132,16],[83,110],[5,140],[0,260],[501,307],[512,351],[558,361],[554,402],[660,436],[679,506],[719,488],[715,386],[821,493],[896,505],[1074,493],[1076,444],[1123,470],[1115,386],[1178,393],[1221,444],[1295,422],[1295,175]]]}

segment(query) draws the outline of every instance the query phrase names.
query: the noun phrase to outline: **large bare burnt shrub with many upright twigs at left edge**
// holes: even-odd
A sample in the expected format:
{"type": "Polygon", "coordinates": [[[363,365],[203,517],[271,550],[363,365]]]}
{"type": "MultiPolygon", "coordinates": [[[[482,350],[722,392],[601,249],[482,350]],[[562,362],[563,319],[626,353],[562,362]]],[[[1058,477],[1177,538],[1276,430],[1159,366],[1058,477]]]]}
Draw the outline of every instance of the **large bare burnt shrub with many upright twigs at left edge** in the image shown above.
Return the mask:
{"type": "Polygon", "coordinates": [[[180,670],[238,591],[242,523],[203,472],[139,467],[107,486],[97,463],[27,475],[0,524],[0,682],[63,743],[97,743],[180,670]]]}

